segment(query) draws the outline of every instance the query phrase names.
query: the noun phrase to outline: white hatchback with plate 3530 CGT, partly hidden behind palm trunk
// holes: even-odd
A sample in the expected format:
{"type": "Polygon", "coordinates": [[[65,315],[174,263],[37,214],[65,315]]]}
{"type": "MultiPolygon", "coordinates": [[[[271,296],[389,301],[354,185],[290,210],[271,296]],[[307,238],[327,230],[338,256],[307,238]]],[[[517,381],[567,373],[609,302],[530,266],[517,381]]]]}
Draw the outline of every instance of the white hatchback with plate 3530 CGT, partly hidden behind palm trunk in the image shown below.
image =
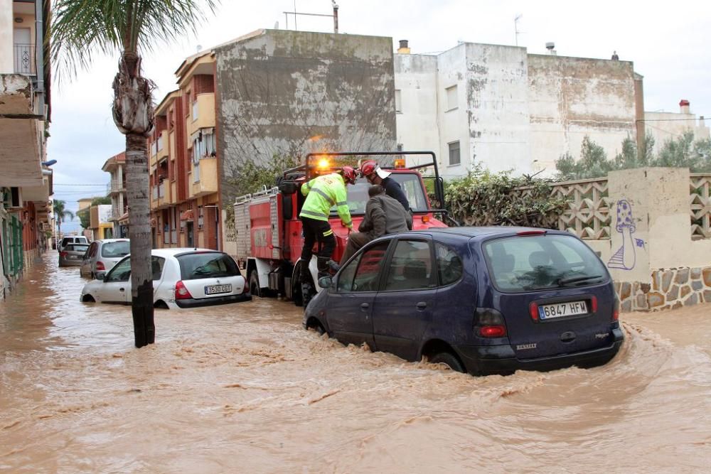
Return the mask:
{"type": "MultiPolygon", "coordinates": [[[[131,259],[85,284],[80,301],[130,304],[131,259]]],[[[228,254],[210,249],[151,250],[154,306],[195,308],[252,299],[245,277],[228,254]]]]}

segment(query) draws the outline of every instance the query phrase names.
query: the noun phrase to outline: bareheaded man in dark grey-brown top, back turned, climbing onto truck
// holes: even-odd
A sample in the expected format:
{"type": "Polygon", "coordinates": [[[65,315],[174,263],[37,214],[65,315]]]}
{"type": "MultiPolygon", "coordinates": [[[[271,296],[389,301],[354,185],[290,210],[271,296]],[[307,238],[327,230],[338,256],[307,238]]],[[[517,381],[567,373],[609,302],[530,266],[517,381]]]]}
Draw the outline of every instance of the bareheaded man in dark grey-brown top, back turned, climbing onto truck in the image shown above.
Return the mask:
{"type": "Polygon", "coordinates": [[[407,212],[395,199],[385,194],[381,185],[368,188],[368,203],[365,204],[365,217],[358,226],[358,232],[348,236],[346,250],[341,257],[341,265],[355,254],[360,247],[373,239],[395,232],[407,231],[407,212]]]}

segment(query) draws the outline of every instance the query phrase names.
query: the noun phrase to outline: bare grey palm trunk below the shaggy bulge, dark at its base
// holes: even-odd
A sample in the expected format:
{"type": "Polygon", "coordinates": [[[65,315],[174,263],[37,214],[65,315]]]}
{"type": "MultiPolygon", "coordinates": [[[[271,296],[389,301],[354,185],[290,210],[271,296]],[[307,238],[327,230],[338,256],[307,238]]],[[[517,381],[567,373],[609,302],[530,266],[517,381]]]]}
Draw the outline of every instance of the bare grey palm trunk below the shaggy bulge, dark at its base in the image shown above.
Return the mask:
{"type": "Polygon", "coordinates": [[[126,195],[129,202],[131,239],[131,308],[136,347],[153,344],[153,272],[151,269],[151,222],[148,146],[142,134],[126,135],[126,195]]]}

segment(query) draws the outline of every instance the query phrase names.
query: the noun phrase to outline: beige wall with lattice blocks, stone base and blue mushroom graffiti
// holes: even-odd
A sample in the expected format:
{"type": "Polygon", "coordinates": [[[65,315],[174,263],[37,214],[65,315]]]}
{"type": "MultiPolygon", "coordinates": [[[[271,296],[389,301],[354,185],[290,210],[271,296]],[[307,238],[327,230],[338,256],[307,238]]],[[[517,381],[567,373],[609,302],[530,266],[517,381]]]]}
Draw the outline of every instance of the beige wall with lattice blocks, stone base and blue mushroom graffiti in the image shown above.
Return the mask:
{"type": "Polygon", "coordinates": [[[571,198],[559,228],[597,252],[629,312],[711,303],[710,188],[687,168],[637,168],[553,193],[571,198]]]}

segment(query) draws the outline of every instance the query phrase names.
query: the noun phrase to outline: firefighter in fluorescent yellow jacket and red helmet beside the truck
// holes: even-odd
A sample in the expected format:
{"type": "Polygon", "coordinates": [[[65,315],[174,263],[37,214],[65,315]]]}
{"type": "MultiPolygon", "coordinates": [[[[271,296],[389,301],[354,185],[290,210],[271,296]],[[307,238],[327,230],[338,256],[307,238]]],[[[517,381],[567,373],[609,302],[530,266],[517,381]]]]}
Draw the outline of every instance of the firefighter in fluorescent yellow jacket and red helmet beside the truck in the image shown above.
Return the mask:
{"type": "Polygon", "coordinates": [[[336,237],[328,224],[328,218],[331,215],[331,207],[335,205],[343,225],[348,227],[348,230],[353,229],[351,211],[348,210],[346,202],[346,184],[355,183],[356,178],[358,176],[351,166],[343,166],[340,173],[318,176],[301,185],[301,194],[306,196],[299,213],[304,227],[304,248],[301,250],[301,294],[304,296],[304,306],[314,290],[309,283],[309,262],[315,242],[320,244],[316,263],[319,278],[328,274],[329,267],[338,269],[338,264],[331,259],[333,250],[336,249],[336,237]]]}

